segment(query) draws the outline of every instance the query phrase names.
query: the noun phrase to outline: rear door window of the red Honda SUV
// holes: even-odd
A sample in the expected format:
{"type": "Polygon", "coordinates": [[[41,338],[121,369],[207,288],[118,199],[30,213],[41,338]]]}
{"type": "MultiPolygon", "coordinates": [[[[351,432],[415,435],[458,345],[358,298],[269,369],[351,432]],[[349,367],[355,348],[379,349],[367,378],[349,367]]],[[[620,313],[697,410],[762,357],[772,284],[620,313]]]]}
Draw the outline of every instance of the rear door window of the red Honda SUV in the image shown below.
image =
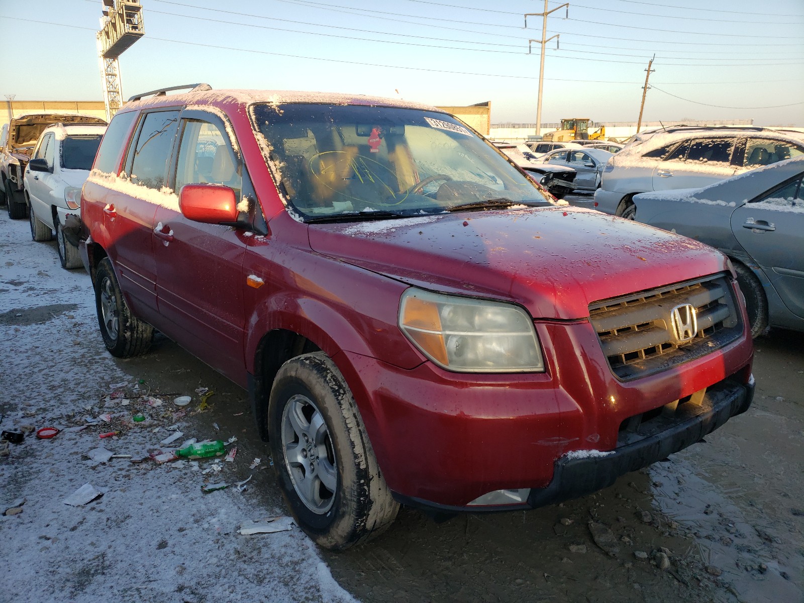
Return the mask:
{"type": "Polygon", "coordinates": [[[177,111],[147,113],[137,135],[137,144],[129,150],[126,166],[131,182],[157,191],[166,185],[170,154],[178,131],[177,111]]]}

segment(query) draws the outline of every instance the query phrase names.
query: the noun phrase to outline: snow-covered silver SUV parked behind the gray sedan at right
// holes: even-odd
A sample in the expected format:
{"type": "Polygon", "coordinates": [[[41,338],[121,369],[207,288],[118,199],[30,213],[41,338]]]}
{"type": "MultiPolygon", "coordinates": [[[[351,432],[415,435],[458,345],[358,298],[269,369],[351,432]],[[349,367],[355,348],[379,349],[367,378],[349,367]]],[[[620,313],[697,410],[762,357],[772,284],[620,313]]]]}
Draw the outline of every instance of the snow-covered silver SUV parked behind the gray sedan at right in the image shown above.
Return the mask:
{"type": "Polygon", "coordinates": [[[634,218],[634,195],[705,187],[804,154],[804,133],[754,127],[676,126],[639,133],[609,159],[597,209],[634,218]]]}

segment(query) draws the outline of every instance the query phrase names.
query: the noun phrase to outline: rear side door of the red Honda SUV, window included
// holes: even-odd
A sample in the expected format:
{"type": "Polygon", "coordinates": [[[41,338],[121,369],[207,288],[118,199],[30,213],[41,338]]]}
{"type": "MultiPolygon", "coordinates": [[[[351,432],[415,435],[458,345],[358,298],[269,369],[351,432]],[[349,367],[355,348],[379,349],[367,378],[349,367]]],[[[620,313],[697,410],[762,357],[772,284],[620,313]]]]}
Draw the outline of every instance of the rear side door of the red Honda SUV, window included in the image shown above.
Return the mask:
{"type": "Polygon", "coordinates": [[[154,322],[158,321],[154,215],[157,207],[178,210],[178,197],[166,188],[178,114],[178,109],[167,109],[140,116],[123,173],[109,187],[104,207],[104,222],[112,240],[109,256],[115,263],[121,289],[134,314],[154,326],[158,326],[154,322]]]}

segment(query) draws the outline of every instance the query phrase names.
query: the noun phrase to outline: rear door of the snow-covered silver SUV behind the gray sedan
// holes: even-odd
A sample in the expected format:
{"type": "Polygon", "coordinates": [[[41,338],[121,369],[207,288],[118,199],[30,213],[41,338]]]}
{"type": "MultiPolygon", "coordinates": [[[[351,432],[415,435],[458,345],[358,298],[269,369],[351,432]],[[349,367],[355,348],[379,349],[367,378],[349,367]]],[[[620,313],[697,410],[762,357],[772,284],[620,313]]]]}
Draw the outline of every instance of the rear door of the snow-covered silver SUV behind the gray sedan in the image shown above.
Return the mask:
{"type": "Polygon", "coordinates": [[[701,137],[683,142],[654,168],[654,191],[698,188],[734,173],[736,138],[701,137]]]}

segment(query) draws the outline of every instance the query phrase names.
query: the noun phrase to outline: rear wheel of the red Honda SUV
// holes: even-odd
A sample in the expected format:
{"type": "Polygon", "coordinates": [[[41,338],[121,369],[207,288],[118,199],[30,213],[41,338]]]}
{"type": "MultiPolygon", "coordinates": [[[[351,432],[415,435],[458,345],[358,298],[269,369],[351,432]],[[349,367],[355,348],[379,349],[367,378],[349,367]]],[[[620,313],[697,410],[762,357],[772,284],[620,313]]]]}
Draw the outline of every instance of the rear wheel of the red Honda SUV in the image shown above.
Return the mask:
{"type": "Polygon", "coordinates": [[[154,327],[131,314],[108,257],[100,260],[95,275],[95,307],[100,334],[113,356],[130,358],[148,351],[154,327]]]}

